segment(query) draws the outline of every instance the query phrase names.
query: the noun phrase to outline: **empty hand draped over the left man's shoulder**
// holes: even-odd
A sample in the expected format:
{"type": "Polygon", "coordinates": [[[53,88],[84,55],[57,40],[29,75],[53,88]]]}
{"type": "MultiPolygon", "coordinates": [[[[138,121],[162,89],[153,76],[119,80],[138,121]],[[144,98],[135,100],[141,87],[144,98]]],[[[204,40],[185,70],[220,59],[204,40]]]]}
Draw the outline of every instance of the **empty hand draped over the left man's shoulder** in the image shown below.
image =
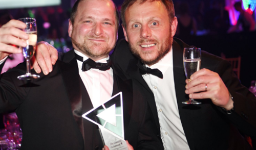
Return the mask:
{"type": "Polygon", "coordinates": [[[40,73],[42,70],[42,72],[47,75],[49,72],[52,71],[52,65],[56,63],[57,59],[57,49],[55,49],[49,43],[41,41],[37,43],[35,56],[33,58],[33,68],[36,73],[40,73]]]}

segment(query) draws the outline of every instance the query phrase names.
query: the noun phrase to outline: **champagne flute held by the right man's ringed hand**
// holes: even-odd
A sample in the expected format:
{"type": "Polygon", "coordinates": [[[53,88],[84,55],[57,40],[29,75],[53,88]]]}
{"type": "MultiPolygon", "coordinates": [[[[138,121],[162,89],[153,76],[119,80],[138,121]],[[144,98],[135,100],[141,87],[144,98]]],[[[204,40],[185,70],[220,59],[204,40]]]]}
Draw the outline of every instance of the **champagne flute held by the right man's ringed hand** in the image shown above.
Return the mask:
{"type": "MultiPolygon", "coordinates": [[[[190,82],[190,76],[196,71],[198,71],[201,66],[201,48],[184,48],[183,65],[186,78],[188,79],[188,82],[190,82]]],[[[201,102],[197,102],[193,98],[189,98],[188,101],[182,102],[182,104],[201,104],[201,102]]]]}

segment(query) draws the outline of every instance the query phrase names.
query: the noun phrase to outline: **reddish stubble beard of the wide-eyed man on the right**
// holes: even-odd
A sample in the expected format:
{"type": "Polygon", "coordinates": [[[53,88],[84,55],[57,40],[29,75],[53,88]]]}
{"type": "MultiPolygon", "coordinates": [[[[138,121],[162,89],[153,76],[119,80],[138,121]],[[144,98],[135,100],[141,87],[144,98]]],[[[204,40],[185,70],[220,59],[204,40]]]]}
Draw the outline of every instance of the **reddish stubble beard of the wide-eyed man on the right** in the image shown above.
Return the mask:
{"type": "MultiPolygon", "coordinates": [[[[141,39],[139,42],[137,42],[137,45],[140,45],[143,42],[154,42],[154,43],[156,43],[156,45],[159,45],[159,41],[157,41],[155,39],[150,39],[150,40],[141,39]]],[[[151,65],[159,62],[170,51],[170,47],[172,47],[172,44],[173,44],[172,34],[169,33],[168,37],[163,42],[163,45],[156,52],[157,53],[156,58],[152,59],[152,60],[143,59],[140,56],[140,53],[142,53],[141,55],[144,55],[144,57],[145,57],[145,56],[150,56],[152,53],[155,53],[155,52],[140,52],[139,53],[138,49],[136,49],[136,47],[132,46],[131,43],[129,43],[129,46],[130,46],[130,49],[131,49],[131,52],[133,53],[133,55],[135,55],[137,58],[139,58],[142,63],[151,66],[151,65]]]]}

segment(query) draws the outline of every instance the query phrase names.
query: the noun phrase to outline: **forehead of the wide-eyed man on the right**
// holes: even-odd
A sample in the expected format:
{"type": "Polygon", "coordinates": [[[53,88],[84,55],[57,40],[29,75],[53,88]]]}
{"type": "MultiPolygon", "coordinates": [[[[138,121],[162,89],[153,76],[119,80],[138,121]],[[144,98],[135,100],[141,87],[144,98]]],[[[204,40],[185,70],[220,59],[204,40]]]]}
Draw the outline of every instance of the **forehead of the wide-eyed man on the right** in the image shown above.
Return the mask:
{"type": "Polygon", "coordinates": [[[147,19],[154,17],[168,17],[167,10],[161,1],[146,1],[143,4],[140,4],[140,2],[137,1],[125,11],[125,20],[127,22],[136,19],[147,19]]]}

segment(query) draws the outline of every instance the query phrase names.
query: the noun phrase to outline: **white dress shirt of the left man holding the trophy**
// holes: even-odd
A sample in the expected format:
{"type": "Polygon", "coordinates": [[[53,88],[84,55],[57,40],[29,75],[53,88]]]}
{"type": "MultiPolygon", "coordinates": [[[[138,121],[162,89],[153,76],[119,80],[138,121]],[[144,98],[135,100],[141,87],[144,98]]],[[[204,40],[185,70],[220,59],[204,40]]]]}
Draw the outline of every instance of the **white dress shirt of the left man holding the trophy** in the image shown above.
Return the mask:
{"type": "MultiPolygon", "coordinates": [[[[75,50],[75,53],[83,57],[83,61],[87,60],[88,57],[83,55],[81,52],[75,50]]],[[[106,60],[110,58],[103,58],[96,62],[106,63],[106,60]]],[[[105,71],[99,69],[91,68],[88,71],[82,71],[82,62],[77,60],[79,75],[82,79],[84,86],[91,98],[93,107],[96,108],[100,106],[103,102],[112,97],[113,92],[113,69],[110,68],[105,71]]]]}

